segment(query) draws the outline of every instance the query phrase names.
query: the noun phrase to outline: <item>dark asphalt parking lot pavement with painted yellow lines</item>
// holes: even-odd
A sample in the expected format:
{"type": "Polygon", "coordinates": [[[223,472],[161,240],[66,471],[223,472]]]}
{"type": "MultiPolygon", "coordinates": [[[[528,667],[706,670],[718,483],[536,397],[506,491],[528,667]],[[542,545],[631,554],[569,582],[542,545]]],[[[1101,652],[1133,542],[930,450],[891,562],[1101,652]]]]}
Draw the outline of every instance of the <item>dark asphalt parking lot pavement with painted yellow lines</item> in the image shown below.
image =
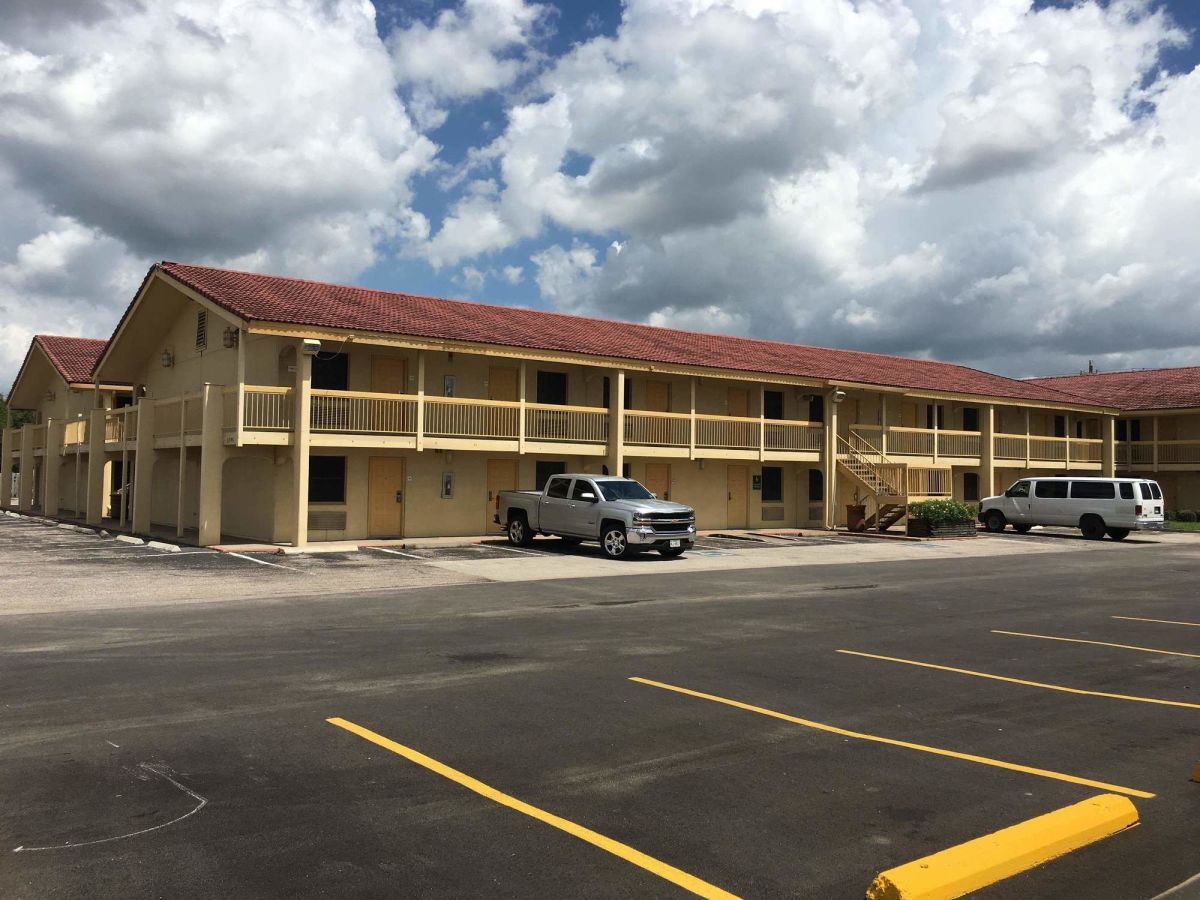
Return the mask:
{"type": "Polygon", "coordinates": [[[616,565],[67,534],[0,522],[5,898],[851,898],[1110,792],[1139,827],[978,895],[1200,870],[1200,541],[616,565]]]}

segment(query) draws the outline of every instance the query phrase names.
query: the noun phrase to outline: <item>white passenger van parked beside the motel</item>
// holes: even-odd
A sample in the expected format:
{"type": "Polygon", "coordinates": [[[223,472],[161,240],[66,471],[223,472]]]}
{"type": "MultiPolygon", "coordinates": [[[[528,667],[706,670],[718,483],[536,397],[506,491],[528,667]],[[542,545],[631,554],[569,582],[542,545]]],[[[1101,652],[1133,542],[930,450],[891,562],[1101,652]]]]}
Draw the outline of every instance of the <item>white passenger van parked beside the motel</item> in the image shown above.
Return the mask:
{"type": "Polygon", "coordinates": [[[989,532],[1025,534],[1036,524],[1078,528],[1088,540],[1124,540],[1129,532],[1163,529],[1163,491],[1140,478],[1022,478],[1002,497],[979,504],[989,532]]]}

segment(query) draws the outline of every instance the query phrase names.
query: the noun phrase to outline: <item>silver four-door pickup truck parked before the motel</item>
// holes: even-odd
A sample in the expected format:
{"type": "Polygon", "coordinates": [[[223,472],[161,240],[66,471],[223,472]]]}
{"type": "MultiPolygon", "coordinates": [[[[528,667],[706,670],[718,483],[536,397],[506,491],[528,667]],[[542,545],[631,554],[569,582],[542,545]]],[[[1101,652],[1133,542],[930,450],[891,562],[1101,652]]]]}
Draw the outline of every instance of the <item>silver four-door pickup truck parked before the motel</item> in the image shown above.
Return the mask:
{"type": "Polygon", "coordinates": [[[518,547],[535,534],[552,534],[576,544],[599,541],[610,559],[642,550],[677,557],[696,540],[696,510],[611,475],[554,475],[545,491],[500,491],[496,523],[518,547]]]}

